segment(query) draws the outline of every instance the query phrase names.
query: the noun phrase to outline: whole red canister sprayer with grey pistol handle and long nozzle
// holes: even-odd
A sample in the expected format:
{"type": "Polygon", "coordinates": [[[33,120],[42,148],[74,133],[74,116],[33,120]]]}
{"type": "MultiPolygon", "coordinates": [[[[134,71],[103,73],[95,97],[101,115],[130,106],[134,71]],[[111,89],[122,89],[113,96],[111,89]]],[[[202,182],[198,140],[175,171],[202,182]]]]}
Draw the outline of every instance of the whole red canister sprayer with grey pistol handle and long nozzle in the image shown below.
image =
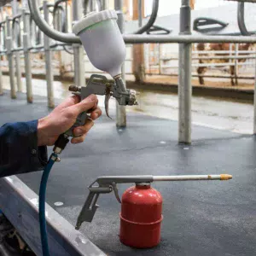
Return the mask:
{"type": "Polygon", "coordinates": [[[195,180],[229,180],[229,174],[219,175],[179,175],[179,176],[105,176],[98,177],[89,186],[90,193],[79,214],[76,229],[81,224],[91,222],[96,209],[96,201],[100,194],[114,192],[121,203],[120,241],[125,245],[137,248],[154,247],[160,242],[160,224],[162,216],[162,196],[151,183],[156,181],[195,181],[195,180]],[[96,186],[95,184],[98,183],[96,186]],[[135,183],[125,190],[122,201],[117,189],[118,183],[135,183]]]}

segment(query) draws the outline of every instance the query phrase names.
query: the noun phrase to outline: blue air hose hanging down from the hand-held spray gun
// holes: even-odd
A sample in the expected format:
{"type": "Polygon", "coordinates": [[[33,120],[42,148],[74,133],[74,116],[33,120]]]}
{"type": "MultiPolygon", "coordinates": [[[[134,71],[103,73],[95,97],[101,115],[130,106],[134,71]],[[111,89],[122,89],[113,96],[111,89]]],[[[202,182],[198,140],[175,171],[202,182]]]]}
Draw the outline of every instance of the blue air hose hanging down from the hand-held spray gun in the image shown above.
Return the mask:
{"type": "Polygon", "coordinates": [[[44,173],[41,179],[40,189],[39,189],[39,223],[40,223],[42,252],[44,256],[49,256],[49,246],[48,246],[46,220],[45,220],[45,192],[46,192],[49,172],[52,166],[54,165],[57,157],[58,155],[55,153],[50,155],[48,163],[44,168],[44,173]]]}

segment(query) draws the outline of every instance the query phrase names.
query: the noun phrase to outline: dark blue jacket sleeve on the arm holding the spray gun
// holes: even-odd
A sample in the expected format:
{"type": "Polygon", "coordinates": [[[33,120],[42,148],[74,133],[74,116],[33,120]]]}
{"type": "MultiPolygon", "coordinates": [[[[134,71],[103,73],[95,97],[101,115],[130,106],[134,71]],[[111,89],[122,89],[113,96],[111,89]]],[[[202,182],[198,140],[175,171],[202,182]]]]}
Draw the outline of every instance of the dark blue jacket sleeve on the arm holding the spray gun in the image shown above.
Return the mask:
{"type": "Polygon", "coordinates": [[[47,148],[38,147],[38,120],[0,127],[0,177],[43,170],[47,148]]]}

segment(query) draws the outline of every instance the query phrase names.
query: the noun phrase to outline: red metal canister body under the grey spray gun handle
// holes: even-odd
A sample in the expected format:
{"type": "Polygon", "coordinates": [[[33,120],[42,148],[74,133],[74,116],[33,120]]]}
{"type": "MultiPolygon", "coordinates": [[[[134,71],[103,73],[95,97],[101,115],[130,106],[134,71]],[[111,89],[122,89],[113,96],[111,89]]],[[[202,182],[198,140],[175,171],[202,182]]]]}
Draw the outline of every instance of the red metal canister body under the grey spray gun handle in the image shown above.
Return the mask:
{"type": "Polygon", "coordinates": [[[137,248],[160,243],[162,196],[149,183],[140,183],[125,190],[120,212],[120,241],[137,248]]]}

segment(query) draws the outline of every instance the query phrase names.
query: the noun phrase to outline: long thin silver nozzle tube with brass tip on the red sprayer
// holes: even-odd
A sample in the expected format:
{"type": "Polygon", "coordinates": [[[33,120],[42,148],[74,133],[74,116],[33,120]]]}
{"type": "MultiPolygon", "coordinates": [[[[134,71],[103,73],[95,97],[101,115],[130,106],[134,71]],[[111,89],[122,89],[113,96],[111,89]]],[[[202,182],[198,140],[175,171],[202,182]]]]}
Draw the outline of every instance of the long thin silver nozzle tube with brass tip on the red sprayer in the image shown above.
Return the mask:
{"type": "Polygon", "coordinates": [[[230,174],[153,176],[154,181],[229,180],[230,174]]]}

